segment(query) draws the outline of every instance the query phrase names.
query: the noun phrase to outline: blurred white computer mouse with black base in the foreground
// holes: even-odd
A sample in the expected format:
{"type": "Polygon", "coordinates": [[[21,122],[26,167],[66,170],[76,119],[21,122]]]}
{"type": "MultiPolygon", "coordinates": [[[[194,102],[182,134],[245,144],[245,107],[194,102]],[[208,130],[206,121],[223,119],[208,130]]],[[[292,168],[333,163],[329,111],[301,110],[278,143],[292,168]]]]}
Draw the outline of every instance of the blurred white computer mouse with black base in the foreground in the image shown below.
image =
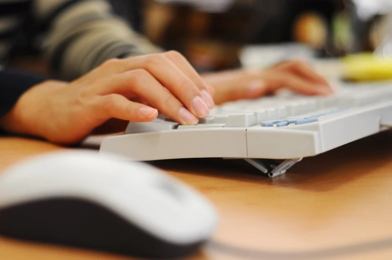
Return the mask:
{"type": "Polygon", "coordinates": [[[0,234],[12,238],[172,258],[197,250],[216,224],[201,194],[119,157],[54,152],[0,175],[0,234]]]}

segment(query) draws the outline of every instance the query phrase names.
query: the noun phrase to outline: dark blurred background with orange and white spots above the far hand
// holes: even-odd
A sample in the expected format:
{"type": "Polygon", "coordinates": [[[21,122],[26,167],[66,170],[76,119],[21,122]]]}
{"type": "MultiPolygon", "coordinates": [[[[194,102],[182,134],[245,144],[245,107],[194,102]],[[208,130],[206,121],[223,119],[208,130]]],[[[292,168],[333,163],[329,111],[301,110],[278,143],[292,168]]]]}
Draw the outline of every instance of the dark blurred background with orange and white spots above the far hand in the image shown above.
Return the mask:
{"type": "Polygon", "coordinates": [[[392,32],[392,0],[110,1],[133,28],[199,71],[387,52],[392,32]]]}

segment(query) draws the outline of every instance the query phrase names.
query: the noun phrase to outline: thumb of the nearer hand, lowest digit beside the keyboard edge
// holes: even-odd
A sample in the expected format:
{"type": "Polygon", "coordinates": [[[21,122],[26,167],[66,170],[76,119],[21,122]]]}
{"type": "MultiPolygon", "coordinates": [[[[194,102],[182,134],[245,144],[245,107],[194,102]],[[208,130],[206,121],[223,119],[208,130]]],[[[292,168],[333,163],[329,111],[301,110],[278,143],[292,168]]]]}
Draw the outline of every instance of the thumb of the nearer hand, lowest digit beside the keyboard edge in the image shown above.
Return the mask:
{"type": "Polygon", "coordinates": [[[99,96],[95,101],[96,117],[117,118],[133,122],[148,122],[158,116],[158,110],[132,102],[119,94],[99,96]]]}

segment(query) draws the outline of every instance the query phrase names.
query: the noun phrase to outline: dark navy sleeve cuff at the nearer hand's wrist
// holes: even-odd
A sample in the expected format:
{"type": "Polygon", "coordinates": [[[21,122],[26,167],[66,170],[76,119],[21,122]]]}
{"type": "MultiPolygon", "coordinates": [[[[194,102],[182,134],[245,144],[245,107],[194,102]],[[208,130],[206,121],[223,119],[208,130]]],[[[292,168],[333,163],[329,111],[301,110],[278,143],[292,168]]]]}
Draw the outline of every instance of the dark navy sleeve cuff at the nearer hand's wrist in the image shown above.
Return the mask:
{"type": "Polygon", "coordinates": [[[27,89],[45,80],[47,78],[29,72],[0,70],[0,117],[13,107],[27,89]]]}

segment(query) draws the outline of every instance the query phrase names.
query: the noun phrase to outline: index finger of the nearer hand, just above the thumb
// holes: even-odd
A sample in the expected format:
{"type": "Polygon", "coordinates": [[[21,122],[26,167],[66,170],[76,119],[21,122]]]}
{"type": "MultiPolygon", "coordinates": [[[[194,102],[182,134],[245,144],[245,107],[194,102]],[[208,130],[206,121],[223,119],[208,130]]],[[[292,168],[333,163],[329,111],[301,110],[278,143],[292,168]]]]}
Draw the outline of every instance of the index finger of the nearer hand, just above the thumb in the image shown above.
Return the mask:
{"type": "Polygon", "coordinates": [[[127,98],[136,95],[180,124],[193,125],[198,122],[198,119],[184,107],[181,101],[146,70],[131,70],[113,75],[102,82],[102,88],[103,94],[116,93],[127,98]]]}

